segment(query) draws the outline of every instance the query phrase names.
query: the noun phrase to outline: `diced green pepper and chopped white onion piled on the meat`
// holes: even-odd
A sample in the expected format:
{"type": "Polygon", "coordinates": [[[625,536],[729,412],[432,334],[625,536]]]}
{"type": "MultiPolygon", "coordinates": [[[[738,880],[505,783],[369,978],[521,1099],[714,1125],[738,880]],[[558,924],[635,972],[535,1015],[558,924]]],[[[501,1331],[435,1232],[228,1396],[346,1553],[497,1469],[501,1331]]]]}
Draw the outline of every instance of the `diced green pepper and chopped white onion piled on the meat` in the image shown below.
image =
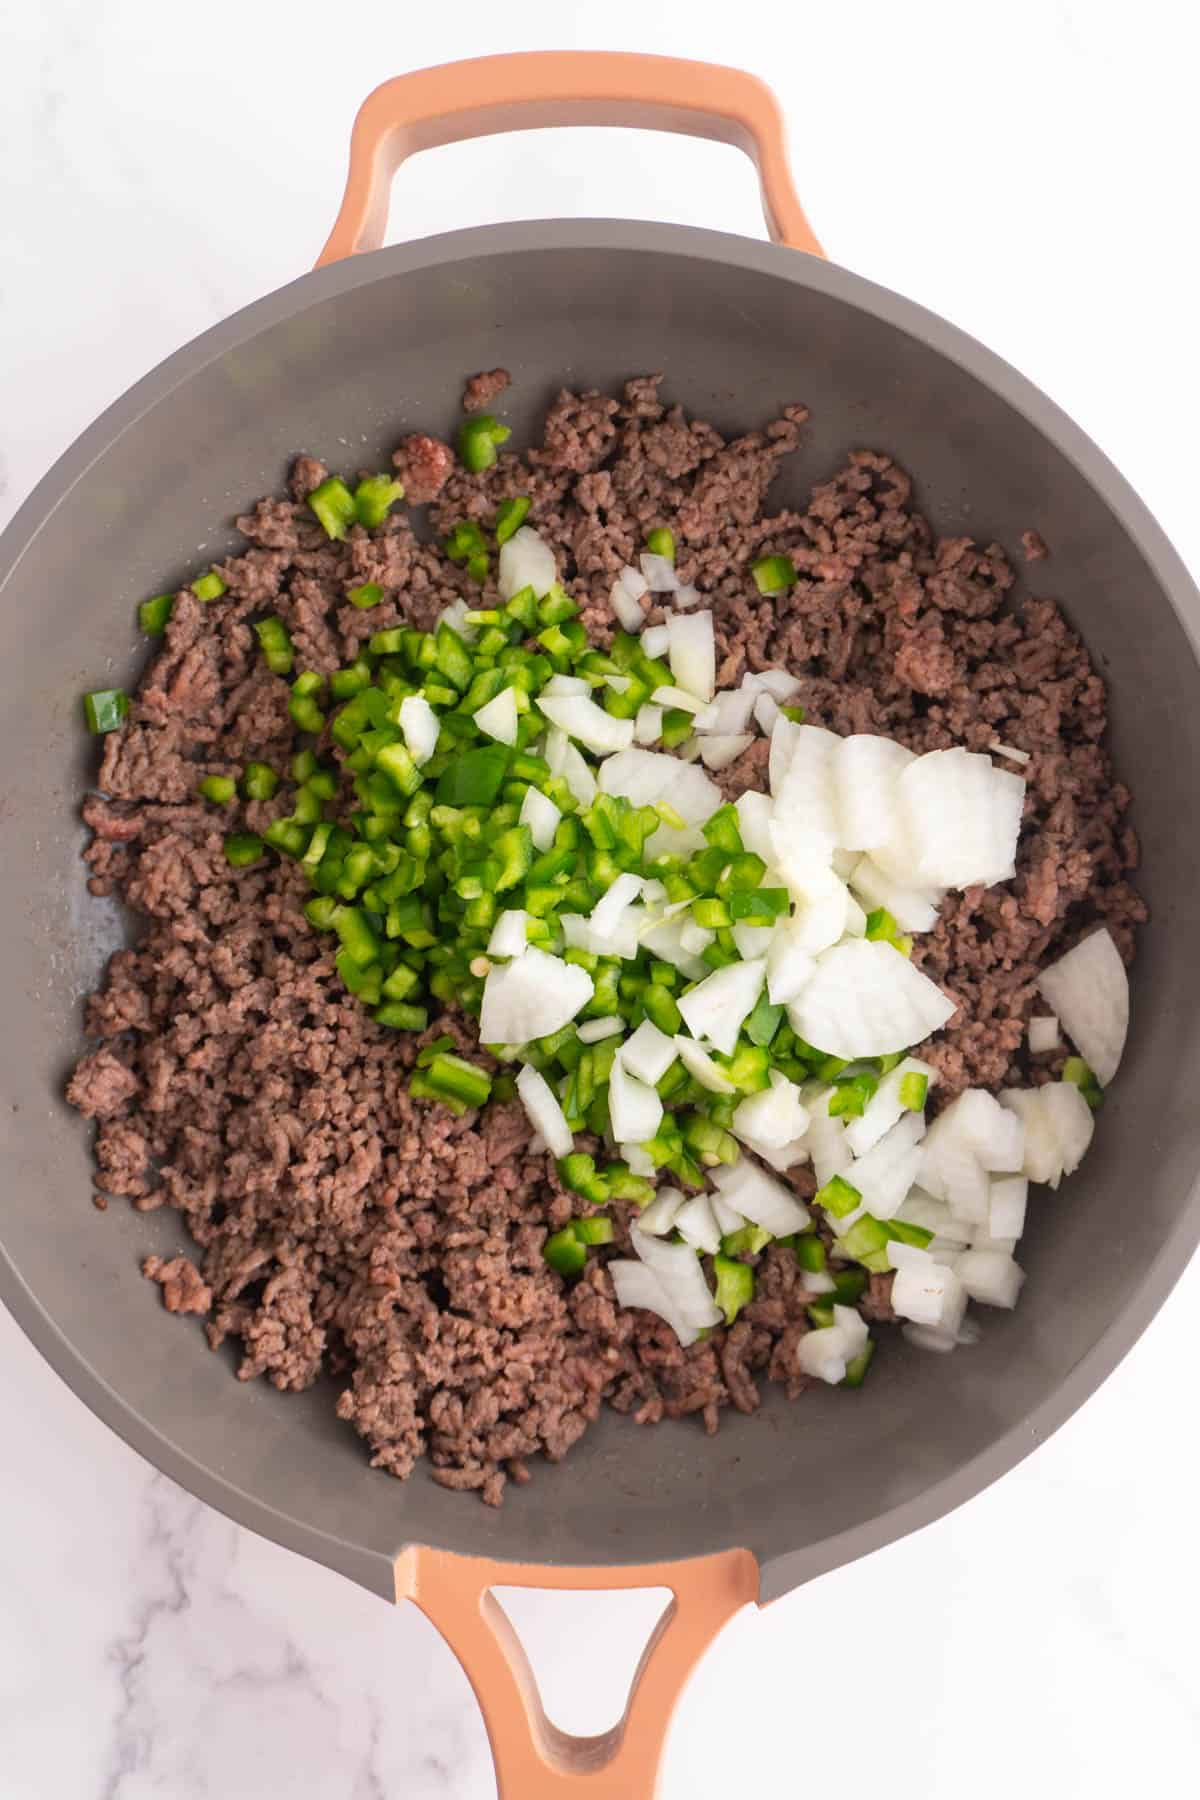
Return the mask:
{"type": "MultiPolygon", "coordinates": [[[[468,421],[470,468],[495,461],[500,434],[468,421]]],[[[331,477],[309,506],[338,538],[399,497],[390,477],[354,491],[331,477]]],[[[784,670],[718,693],[712,614],[680,585],[666,529],[621,571],[619,630],[596,648],[529,508],[509,499],[491,536],[466,520],[444,545],[475,581],[498,556],[502,605],[381,630],[327,680],[293,670],[281,619],[257,623],[311,745],[290,765],[290,814],[227,837],[228,862],[299,862],[309,923],[335,934],[342,981],[381,1026],[423,1031],[450,1004],[479,1021],[498,1075],[439,1039],[410,1087],[457,1112],[522,1100],[587,1206],[545,1244],[563,1276],[613,1242],[604,1208],[622,1201],[640,1213],[635,1258],[608,1264],[617,1300],[684,1345],[736,1319],[774,1240],[811,1294],[806,1373],[862,1382],[873,1273],[894,1271],[891,1305],[918,1343],[954,1348],[968,1300],[1016,1301],[1027,1183],[1056,1186],[1088,1147],[1128,1022],[1112,938],[1094,932],[1042,977],[1054,1012],[1031,1039],[1054,1048],[1061,1022],[1081,1053],[1065,1078],[968,1089],[930,1123],[937,1076],[912,1049],[955,1003],[910,959],[914,934],[946,891],[1013,875],[1022,776],[808,725],[784,670]],[[648,603],[666,623],[646,623],[648,603]],[[756,733],[770,794],[723,803],[709,770],[756,733]],[[806,1163],[811,1204],[779,1179],[806,1163]]],[[[770,594],[795,569],[763,556],[754,578],[770,594]]],[[[381,589],[349,599],[369,608],[381,589]]],[[[169,605],[146,601],[148,632],[169,605]]],[[[128,711],[119,689],[85,704],[94,731],[128,711]]],[[[239,787],[270,799],[279,783],[250,763],[239,787]]],[[[221,806],[237,785],[209,776],[200,792],[221,806]]]]}

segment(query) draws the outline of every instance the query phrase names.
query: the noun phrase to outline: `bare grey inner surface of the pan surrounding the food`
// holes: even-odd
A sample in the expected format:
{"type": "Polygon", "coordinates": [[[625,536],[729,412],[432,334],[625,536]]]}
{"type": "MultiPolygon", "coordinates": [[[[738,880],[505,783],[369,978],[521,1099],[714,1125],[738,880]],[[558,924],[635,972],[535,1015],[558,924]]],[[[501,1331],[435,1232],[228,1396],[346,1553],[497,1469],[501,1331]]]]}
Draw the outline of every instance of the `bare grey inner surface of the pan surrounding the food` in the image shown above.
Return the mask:
{"type": "MultiPolygon", "coordinates": [[[[1200,1109],[1196,594],[1146,509],[1042,394],[952,326],[846,270],[745,239],[631,223],[507,225],[342,263],[180,351],[94,425],[0,540],[0,1292],[70,1386],[212,1505],[380,1593],[410,1541],[525,1562],[639,1562],[745,1544],[763,1597],[975,1492],[1058,1426],[1124,1354],[1191,1253],[1200,1109]],[[1126,1064],[1083,1172],[1038,1193],[1016,1314],[930,1357],[896,1339],[856,1395],[754,1418],[639,1429],[606,1417],[502,1512],[417,1471],[374,1474],[333,1388],[239,1386],[171,1319],[139,1258],[171,1215],[90,1204],[88,1132],[61,1102],[81,994],[119,934],[77,851],[94,747],[79,695],[133,682],[135,603],[236,538],[228,520],[309,450],[385,464],[401,430],[450,428],[464,373],[506,364],[524,441],[561,383],[666,369],[725,430],[811,407],[779,500],[858,445],[894,452],[948,533],[1016,547],[1114,689],[1153,909],[1126,1064]],[[1101,1253],[1103,1246],[1103,1253],[1101,1253]]],[[[27,1447],[36,1454],[36,1445],[27,1447]]]]}

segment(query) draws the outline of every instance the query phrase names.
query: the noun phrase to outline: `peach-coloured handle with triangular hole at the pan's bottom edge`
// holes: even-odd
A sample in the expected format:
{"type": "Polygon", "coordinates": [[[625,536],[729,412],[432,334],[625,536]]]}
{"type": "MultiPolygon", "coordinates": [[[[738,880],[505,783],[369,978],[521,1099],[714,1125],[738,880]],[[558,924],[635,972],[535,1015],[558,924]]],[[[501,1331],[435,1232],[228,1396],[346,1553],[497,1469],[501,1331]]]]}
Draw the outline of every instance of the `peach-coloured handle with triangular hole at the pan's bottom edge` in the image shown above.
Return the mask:
{"type": "Polygon", "coordinates": [[[748,1550],[615,1570],[491,1562],[423,1544],[396,1561],[396,1597],[416,1600],[475,1688],[500,1800],[653,1800],[684,1683],[721,1625],[757,1600],[757,1562],[748,1550]],[[612,1732],[569,1737],[551,1724],[493,1588],[671,1589],[675,1600],[646,1645],[624,1717],[612,1732]]]}

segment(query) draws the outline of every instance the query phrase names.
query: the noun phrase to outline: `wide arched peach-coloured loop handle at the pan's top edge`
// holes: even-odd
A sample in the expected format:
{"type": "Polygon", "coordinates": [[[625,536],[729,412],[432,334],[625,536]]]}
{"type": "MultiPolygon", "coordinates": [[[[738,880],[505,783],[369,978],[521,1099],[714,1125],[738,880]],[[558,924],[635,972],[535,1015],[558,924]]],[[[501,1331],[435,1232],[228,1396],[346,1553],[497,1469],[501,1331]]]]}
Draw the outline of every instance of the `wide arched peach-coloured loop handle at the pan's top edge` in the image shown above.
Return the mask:
{"type": "Polygon", "coordinates": [[[317,268],[381,247],[392,176],[414,151],[560,124],[736,144],[757,167],[774,241],[824,256],[792,185],[779,101],[757,76],[676,56],[522,50],[417,68],[367,95],[354,119],[342,211],[317,268]]]}

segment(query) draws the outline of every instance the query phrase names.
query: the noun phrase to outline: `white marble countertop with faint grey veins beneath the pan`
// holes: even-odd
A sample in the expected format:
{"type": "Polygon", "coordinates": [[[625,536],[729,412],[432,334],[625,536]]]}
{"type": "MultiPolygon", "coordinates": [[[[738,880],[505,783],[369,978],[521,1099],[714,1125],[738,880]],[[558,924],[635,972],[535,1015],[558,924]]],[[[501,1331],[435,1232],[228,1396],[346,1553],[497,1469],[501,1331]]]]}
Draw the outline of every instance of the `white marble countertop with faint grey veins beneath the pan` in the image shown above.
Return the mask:
{"type": "MultiPolygon", "coordinates": [[[[741,61],[772,79],[829,254],[1040,382],[1200,569],[1200,139],[1184,11],[5,7],[0,524],[130,382],[311,263],[353,110],[376,81],[455,54],[579,45],[741,61]]],[[[597,133],[578,133],[552,162],[531,140],[417,158],[398,180],[392,236],[579,212],[761,234],[734,151],[622,137],[601,162],[597,133]]],[[[1200,1265],[1090,1406],[999,1487],[741,1615],[684,1697],[666,1800],[716,1800],[748,1777],[784,1795],[846,1791],[880,1762],[898,1800],[1124,1800],[1166,1778],[1186,1791],[1200,1757],[1193,1307],[1200,1265]],[[856,1672],[824,1701],[806,1676],[817,1645],[824,1667],[856,1672]]],[[[495,1793],[466,1681],[416,1609],[157,1476],[5,1316],[0,1350],[4,1800],[495,1793]]],[[[579,1627],[579,1663],[542,1670],[565,1726],[615,1715],[644,1613],[630,1597],[522,1607],[534,1663],[563,1618],[579,1627]]]]}

